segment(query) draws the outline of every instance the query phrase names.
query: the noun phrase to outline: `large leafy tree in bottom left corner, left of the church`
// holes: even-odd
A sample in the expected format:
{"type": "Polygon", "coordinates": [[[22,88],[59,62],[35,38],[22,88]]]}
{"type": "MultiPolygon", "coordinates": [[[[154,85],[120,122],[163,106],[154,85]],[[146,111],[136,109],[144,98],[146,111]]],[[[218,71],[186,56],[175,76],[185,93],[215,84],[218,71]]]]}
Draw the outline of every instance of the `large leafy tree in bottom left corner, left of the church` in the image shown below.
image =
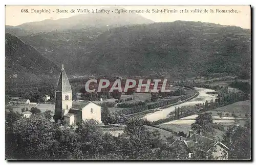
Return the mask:
{"type": "Polygon", "coordinates": [[[15,122],[13,133],[17,138],[13,153],[17,159],[50,159],[54,140],[53,123],[42,116],[31,116],[15,122]]]}

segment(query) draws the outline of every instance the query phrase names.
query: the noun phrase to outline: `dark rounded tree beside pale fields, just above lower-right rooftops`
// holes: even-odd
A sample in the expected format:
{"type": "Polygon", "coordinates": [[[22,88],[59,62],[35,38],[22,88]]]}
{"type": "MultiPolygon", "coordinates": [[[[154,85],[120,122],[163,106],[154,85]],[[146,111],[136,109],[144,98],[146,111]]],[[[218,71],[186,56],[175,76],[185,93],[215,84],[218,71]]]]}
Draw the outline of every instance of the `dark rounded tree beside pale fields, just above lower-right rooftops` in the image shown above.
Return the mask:
{"type": "Polygon", "coordinates": [[[214,132],[214,123],[211,115],[209,113],[199,114],[196,118],[196,122],[191,124],[191,129],[200,131],[202,133],[208,134],[214,132]]]}

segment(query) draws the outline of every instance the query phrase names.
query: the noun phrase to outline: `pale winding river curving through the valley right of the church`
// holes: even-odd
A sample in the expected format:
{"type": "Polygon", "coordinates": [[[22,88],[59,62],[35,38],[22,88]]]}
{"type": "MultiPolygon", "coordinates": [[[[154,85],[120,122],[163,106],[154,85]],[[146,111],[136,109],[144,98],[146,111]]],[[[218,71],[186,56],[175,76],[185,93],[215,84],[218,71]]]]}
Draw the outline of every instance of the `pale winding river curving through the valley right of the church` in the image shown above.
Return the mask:
{"type": "Polygon", "coordinates": [[[208,101],[210,101],[211,99],[215,100],[216,97],[217,97],[217,95],[212,95],[212,94],[210,95],[210,94],[206,93],[206,92],[215,92],[215,90],[204,89],[204,88],[195,88],[195,89],[199,92],[199,95],[196,98],[194,98],[192,100],[189,100],[187,102],[184,102],[182,104],[179,104],[179,105],[174,105],[174,106],[170,106],[170,107],[161,109],[162,111],[157,111],[157,112],[154,112],[154,113],[146,114],[144,119],[147,119],[148,121],[152,121],[152,122],[160,120],[160,119],[165,119],[165,118],[168,117],[168,114],[170,112],[175,111],[175,107],[195,105],[195,104],[198,104],[198,103],[203,103],[206,100],[208,100],[208,101]]]}

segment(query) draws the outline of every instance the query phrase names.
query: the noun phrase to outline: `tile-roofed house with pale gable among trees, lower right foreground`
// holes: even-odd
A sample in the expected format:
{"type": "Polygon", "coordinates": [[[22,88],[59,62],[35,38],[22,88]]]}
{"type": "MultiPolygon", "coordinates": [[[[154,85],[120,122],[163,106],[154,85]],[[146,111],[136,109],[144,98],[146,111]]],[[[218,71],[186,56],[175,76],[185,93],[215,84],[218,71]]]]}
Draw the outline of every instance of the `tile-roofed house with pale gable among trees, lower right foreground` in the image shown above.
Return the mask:
{"type": "Polygon", "coordinates": [[[183,151],[187,154],[188,158],[193,156],[199,156],[203,158],[215,157],[221,160],[227,160],[228,154],[223,157],[224,152],[228,152],[228,147],[222,144],[220,141],[210,139],[206,136],[194,133],[193,130],[189,131],[189,135],[186,139],[177,139],[174,141],[170,147],[178,148],[178,150],[183,151]],[[222,156],[222,157],[221,157],[222,156]]]}

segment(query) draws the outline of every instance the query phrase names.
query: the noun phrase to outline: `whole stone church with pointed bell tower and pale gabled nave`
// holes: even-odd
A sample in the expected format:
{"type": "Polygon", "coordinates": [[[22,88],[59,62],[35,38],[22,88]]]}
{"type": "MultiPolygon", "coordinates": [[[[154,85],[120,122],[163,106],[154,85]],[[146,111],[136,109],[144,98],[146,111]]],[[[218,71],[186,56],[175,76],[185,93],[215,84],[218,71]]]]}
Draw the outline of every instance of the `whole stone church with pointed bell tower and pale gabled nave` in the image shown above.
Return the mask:
{"type": "Polygon", "coordinates": [[[72,90],[68,76],[63,68],[55,91],[54,120],[64,118],[70,125],[81,120],[94,119],[101,123],[101,107],[91,101],[72,100],[72,90]]]}

